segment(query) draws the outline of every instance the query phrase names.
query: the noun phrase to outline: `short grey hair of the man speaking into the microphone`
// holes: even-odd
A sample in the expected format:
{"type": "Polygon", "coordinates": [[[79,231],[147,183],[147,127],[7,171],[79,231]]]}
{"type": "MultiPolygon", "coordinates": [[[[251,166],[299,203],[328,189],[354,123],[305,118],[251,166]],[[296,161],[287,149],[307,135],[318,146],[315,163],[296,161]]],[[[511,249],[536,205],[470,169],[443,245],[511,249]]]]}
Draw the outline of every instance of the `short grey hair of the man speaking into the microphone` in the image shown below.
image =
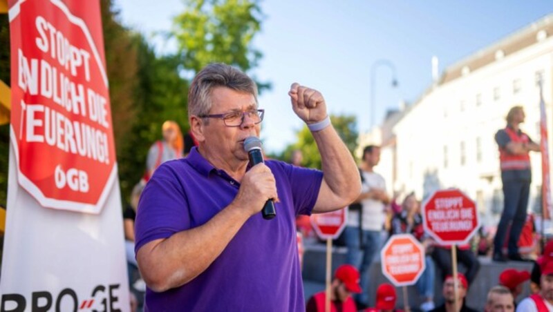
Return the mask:
{"type": "Polygon", "coordinates": [[[188,91],[188,116],[209,114],[212,91],[217,87],[250,93],[257,104],[257,85],[250,77],[227,64],[213,63],[200,70],[192,80],[188,91]]]}

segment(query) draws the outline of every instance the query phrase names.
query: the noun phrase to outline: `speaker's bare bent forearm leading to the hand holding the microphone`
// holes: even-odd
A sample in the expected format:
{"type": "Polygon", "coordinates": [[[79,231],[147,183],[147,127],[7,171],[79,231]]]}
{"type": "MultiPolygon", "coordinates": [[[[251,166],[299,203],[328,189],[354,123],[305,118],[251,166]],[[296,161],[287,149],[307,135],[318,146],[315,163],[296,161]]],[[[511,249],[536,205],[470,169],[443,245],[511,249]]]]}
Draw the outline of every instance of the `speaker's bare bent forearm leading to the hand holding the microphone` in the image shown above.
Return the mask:
{"type": "Polygon", "coordinates": [[[221,255],[248,218],[231,204],[202,226],[145,244],[137,254],[144,280],[153,291],[193,280],[221,255]]]}

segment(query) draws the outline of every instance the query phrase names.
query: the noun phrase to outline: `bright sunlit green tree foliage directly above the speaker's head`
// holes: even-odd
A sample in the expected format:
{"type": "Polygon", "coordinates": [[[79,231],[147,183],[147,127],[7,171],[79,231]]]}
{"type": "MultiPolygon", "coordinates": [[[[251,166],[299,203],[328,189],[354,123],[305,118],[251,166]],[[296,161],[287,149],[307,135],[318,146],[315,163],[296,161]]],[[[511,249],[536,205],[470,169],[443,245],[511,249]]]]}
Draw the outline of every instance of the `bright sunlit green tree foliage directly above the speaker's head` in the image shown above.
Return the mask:
{"type": "MultiPolygon", "coordinates": [[[[263,13],[257,0],[185,0],[185,11],[174,19],[182,65],[193,74],[213,62],[255,68],[262,54],[252,46],[261,30],[263,13]]],[[[256,81],[259,90],[270,84],[256,81]]]]}

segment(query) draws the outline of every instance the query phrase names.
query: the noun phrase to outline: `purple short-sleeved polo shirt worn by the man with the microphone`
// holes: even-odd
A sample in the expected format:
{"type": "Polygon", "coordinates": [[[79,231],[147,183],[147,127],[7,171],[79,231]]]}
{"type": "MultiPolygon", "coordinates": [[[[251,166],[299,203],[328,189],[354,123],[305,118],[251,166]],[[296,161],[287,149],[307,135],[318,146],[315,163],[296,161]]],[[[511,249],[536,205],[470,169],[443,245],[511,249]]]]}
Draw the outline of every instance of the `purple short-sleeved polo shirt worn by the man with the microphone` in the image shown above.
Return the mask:
{"type": "MultiPolygon", "coordinates": [[[[198,277],[163,293],[146,291],[146,311],[304,311],[295,218],[309,215],[321,186],[319,170],[267,161],[281,202],[277,217],[250,217],[223,253],[198,277]]],[[[201,226],[228,206],[240,184],[196,148],[165,162],[138,204],[135,251],[152,240],[201,226]]]]}

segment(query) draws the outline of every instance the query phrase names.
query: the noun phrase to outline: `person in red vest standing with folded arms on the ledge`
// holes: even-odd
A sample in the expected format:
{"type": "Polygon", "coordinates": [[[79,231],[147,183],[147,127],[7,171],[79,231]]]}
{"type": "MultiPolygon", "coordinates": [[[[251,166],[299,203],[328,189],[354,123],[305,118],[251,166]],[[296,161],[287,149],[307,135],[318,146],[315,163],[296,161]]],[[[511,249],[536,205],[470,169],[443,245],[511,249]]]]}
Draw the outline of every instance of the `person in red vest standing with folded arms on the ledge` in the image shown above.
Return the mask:
{"type": "Polygon", "coordinates": [[[504,206],[494,237],[493,260],[526,261],[518,251],[518,237],[526,220],[526,209],[532,182],[529,151],[540,151],[540,146],[520,128],[525,114],[522,106],[514,106],[507,113],[507,126],[496,133],[499,146],[501,180],[503,181],[504,206]],[[511,225],[510,231],[507,228],[511,225]],[[501,252],[505,237],[509,237],[507,256],[501,252]]]}

